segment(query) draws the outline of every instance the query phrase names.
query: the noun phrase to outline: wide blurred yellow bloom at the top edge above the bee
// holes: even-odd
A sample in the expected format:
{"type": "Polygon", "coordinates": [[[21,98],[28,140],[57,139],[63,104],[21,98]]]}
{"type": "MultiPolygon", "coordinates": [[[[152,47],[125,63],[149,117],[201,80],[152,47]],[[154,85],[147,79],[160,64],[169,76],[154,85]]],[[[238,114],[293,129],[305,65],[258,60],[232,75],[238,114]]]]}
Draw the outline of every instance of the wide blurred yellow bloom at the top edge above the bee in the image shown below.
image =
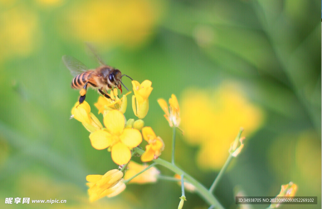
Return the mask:
{"type": "Polygon", "coordinates": [[[163,10],[161,1],[85,1],[66,11],[63,37],[112,47],[134,47],[147,41],[163,10]],[[67,34],[67,36],[66,36],[67,34]]]}

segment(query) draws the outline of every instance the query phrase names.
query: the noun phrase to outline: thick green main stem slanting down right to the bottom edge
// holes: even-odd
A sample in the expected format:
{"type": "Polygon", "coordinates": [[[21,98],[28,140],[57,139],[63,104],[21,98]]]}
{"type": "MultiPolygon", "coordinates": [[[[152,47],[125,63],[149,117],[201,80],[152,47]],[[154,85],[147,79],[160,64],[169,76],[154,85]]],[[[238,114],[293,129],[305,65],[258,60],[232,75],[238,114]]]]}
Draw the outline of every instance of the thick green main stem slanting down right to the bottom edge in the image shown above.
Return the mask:
{"type": "MultiPolygon", "coordinates": [[[[136,147],[134,148],[136,150],[136,152],[140,155],[142,155],[144,153],[144,150],[136,147]]],[[[197,180],[195,180],[192,176],[186,174],[183,170],[181,170],[180,168],[178,168],[177,166],[175,166],[174,164],[167,162],[161,158],[155,159],[153,160],[154,162],[156,162],[158,165],[164,166],[166,168],[168,168],[169,170],[173,171],[174,173],[178,174],[178,175],[184,175],[185,176],[185,180],[187,180],[187,182],[189,182],[190,184],[194,185],[194,187],[196,188],[196,192],[200,195],[200,197],[202,197],[208,204],[210,205],[215,205],[216,208],[219,209],[224,209],[224,207],[219,203],[219,201],[217,200],[217,198],[211,194],[208,189],[206,187],[204,187],[204,185],[200,184],[197,180]]]]}

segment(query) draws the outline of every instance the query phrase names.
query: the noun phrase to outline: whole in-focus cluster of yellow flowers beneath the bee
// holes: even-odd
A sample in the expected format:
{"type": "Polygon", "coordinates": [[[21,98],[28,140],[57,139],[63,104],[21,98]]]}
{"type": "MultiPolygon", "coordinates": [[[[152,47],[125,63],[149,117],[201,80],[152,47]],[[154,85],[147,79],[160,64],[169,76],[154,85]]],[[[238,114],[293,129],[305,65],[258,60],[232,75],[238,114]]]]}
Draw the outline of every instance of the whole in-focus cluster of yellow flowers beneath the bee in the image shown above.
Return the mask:
{"type": "Polygon", "coordinates": [[[158,158],[164,150],[162,138],[157,137],[151,127],[144,127],[142,120],[148,112],[148,97],[153,90],[151,81],[143,81],[141,84],[132,81],[133,92],[132,107],[134,114],[139,118],[126,119],[124,113],[127,109],[127,94],[118,97],[118,90],[110,91],[110,98],[99,97],[95,104],[99,114],[103,114],[103,124],[91,112],[90,105],[84,101],[77,102],[71,110],[72,117],[80,121],[90,131],[90,142],[92,147],[98,150],[107,149],[111,152],[112,160],[123,167],[121,170],[114,169],[102,175],[89,175],[86,177],[90,187],[88,193],[90,201],[95,201],[104,196],[114,196],[125,189],[125,182],[149,183],[156,182],[159,171],[147,165],[140,165],[134,161],[129,163],[134,154],[133,148],[142,142],[142,136],[148,143],[146,151],[141,155],[142,162],[148,162],[158,158]],[[142,134],[141,132],[142,131],[142,134]],[[126,168],[126,169],[124,169],[126,168]],[[145,171],[147,169],[147,171],[145,171]],[[124,171],[123,171],[124,170],[124,171]],[[125,172],[125,178],[123,177],[125,172]],[[138,173],[144,172],[140,175],[138,173]],[[138,175],[138,176],[137,176],[138,175]]]}

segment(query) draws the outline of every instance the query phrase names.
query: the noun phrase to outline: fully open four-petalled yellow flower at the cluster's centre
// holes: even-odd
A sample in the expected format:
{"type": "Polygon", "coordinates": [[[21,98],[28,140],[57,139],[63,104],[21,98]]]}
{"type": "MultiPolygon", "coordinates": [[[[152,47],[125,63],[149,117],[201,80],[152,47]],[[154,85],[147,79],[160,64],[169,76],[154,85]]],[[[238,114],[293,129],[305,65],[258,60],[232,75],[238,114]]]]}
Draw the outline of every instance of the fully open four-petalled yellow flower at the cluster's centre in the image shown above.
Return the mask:
{"type": "Polygon", "coordinates": [[[118,110],[109,111],[103,119],[106,129],[90,134],[90,142],[95,149],[110,147],[112,160],[118,165],[124,165],[131,159],[131,148],[142,142],[140,131],[134,128],[124,128],[125,119],[118,110]]]}

